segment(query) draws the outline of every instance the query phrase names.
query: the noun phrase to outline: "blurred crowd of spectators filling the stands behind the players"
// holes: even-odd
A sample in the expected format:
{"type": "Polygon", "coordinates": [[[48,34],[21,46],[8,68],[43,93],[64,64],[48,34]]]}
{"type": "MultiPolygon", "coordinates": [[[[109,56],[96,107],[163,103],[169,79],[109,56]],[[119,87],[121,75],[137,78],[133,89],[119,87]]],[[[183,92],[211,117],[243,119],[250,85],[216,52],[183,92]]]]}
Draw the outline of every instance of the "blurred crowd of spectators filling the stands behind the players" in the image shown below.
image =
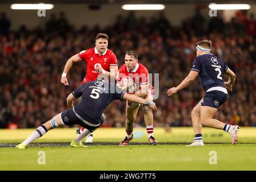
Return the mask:
{"type": "MultiPolygon", "coordinates": [[[[109,35],[109,49],[125,63],[129,49],[137,49],[139,63],[150,73],[159,74],[159,97],[155,102],[154,126],[191,126],[190,112],[203,97],[199,80],[172,97],[167,89],[177,86],[190,72],[196,56],[195,44],[209,38],[212,52],[237,75],[233,92],[215,115],[231,125],[256,126],[256,19],[238,12],[230,22],[217,16],[206,21],[198,12],[173,26],[163,13],[151,19],[119,15],[114,24],[76,30],[61,13],[51,15],[44,27],[28,30],[22,26],[10,31],[10,20],[0,19],[0,128],[16,124],[19,128],[38,127],[54,114],[65,110],[66,97],[85,75],[86,63],[73,65],[67,75],[69,86],[61,84],[67,59],[94,47],[95,35],[109,35]]],[[[154,77],[154,76],[153,76],[154,77]]],[[[227,77],[225,77],[227,80],[227,77]]],[[[154,80],[153,85],[157,81],[154,80]]],[[[158,90],[158,91],[157,91],[158,90]]],[[[115,101],[105,111],[103,127],[125,126],[125,102],[115,101]]],[[[136,126],[145,126],[139,110],[136,126]]]]}

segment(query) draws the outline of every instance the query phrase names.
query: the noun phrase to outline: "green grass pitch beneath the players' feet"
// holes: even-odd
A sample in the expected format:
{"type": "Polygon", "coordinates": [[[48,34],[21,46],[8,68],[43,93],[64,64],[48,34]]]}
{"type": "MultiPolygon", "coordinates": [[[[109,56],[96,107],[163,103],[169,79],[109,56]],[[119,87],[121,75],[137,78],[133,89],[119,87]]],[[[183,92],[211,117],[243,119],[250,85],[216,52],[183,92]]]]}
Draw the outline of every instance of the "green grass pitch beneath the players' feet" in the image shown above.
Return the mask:
{"type": "Polygon", "coordinates": [[[0,130],[0,170],[256,170],[256,128],[242,127],[238,144],[222,130],[203,128],[204,147],[186,147],[193,140],[191,127],[174,127],[170,133],[155,128],[158,146],[147,144],[145,128],[135,128],[129,146],[119,147],[125,137],[123,128],[100,128],[94,145],[71,148],[74,128],[49,131],[25,150],[14,148],[34,129],[0,130]],[[44,145],[63,142],[62,146],[44,145]],[[110,144],[108,144],[111,142],[110,144]],[[9,147],[8,147],[9,146],[9,147]],[[38,151],[45,152],[45,164],[38,164],[38,151]],[[215,151],[217,164],[210,164],[215,151]]]}

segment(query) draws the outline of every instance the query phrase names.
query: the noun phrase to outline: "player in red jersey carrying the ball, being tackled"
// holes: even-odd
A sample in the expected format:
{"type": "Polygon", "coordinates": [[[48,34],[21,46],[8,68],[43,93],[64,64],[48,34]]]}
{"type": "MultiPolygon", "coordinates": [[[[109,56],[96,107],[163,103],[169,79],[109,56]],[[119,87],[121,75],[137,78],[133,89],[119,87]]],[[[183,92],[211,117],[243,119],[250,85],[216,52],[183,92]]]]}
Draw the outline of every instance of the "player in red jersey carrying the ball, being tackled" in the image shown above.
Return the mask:
{"type": "MultiPolygon", "coordinates": [[[[154,90],[149,83],[149,72],[147,68],[138,63],[137,51],[127,51],[125,53],[125,64],[118,71],[117,86],[121,87],[121,80],[123,77],[129,76],[133,78],[135,83],[134,95],[145,98],[146,100],[153,101],[154,90]]],[[[138,113],[139,104],[134,102],[127,102],[126,105],[126,137],[119,144],[120,146],[126,146],[131,139],[133,139],[133,127],[138,113]]],[[[143,113],[145,115],[145,124],[150,144],[157,144],[153,136],[153,113],[149,106],[142,106],[143,113]]]]}

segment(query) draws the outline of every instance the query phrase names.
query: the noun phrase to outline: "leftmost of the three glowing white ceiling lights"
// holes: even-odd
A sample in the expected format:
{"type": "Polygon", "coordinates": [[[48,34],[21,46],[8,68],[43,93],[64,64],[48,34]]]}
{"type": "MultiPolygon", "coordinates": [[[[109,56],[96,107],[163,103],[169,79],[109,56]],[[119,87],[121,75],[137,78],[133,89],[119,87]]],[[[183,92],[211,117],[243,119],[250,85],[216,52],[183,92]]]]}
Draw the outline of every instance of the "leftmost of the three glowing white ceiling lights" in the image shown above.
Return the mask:
{"type": "Polygon", "coordinates": [[[54,5],[51,4],[13,4],[11,5],[12,10],[50,10],[53,9],[54,5]]]}

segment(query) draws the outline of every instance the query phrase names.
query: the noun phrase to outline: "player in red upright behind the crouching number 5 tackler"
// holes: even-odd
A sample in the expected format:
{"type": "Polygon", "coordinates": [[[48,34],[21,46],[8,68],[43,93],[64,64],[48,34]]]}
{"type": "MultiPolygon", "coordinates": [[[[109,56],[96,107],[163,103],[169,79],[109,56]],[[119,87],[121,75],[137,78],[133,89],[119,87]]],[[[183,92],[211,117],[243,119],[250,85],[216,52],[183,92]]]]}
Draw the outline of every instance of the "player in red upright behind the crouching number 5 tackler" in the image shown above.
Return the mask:
{"type": "MultiPolygon", "coordinates": [[[[99,33],[96,36],[95,47],[91,49],[87,49],[77,53],[76,55],[70,57],[67,60],[64,71],[61,76],[61,82],[64,85],[69,85],[67,81],[67,73],[72,67],[73,63],[79,61],[86,61],[87,63],[87,72],[85,78],[81,84],[85,84],[87,81],[95,81],[99,74],[103,77],[113,77],[113,80],[117,76],[118,72],[118,64],[117,57],[115,54],[107,49],[109,36],[106,34],[99,33]]],[[[83,131],[83,127],[77,130],[77,133],[81,133],[83,131]]],[[[92,135],[87,138],[86,142],[92,142],[92,135]]]]}

